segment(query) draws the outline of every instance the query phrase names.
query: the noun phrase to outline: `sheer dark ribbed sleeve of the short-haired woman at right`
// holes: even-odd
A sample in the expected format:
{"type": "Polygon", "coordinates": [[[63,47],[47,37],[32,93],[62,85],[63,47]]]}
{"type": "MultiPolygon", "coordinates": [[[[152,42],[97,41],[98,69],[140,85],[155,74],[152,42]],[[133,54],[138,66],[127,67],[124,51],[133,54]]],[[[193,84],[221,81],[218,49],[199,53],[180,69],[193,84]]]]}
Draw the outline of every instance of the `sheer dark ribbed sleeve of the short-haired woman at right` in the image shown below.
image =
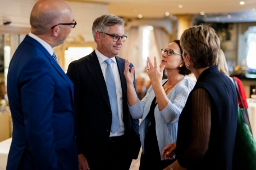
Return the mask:
{"type": "Polygon", "coordinates": [[[191,143],[189,148],[178,159],[182,167],[196,163],[207,152],[211,133],[211,102],[204,88],[195,89],[192,93],[191,143]]]}

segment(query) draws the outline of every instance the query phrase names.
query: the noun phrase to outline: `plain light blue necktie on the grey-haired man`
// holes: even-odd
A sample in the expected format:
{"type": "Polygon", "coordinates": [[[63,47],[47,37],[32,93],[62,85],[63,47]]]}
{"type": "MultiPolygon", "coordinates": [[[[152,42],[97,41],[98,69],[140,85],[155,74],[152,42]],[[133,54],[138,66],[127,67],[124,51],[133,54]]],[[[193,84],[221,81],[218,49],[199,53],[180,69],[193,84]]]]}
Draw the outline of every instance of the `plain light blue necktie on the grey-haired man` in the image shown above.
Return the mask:
{"type": "Polygon", "coordinates": [[[115,78],[111,68],[111,59],[107,59],[104,61],[107,63],[106,69],[106,85],[108,89],[108,97],[111,105],[112,111],[112,124],[111,124],[111,132],[113,134],[119,129],[119,116],[118,116],[118,106],[117,106],[117,96],[116,96],[116,83],[115,78]]]}

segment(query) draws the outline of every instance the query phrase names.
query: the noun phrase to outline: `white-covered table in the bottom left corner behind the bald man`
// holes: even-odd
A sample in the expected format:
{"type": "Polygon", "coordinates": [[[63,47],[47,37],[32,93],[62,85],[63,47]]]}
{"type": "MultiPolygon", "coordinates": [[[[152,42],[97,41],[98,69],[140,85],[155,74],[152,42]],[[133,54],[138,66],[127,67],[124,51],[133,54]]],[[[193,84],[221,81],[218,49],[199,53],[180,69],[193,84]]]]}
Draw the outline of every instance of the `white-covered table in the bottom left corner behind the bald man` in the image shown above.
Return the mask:
{"type": "Polygon", "coordinates": [[[0,142],[0,170],[6,169],[12,138],[0,142]]]}

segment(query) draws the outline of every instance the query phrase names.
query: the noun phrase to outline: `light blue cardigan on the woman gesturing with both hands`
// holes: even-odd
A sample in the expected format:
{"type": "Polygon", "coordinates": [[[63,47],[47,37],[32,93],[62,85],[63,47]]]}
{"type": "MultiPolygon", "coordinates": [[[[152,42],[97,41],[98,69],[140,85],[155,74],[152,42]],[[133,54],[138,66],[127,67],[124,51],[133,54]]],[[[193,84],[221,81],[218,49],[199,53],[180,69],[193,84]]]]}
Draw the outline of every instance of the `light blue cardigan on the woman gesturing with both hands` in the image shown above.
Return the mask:
{"type": "MultiPolygon", "coordinates": [[[[162,80],[162,84],[166,83],[166,81],[167,79],[162,80]]],[[[154,116],[156,119],[156,133],[160,157],[163,148],[167,144],[176,142],[177,140],[179,116],[183,107],[185,106],[189,93],[194,86],[195,82],[185,75],[184,78],[167,94],[169,102],[166,108],[160,111],[158,105],[155,107],[154,116]]],[[[154,97],[156,97],[156,95],[151,86],[146,96],[141,101],[138,99],[138,102],[134,106],[129,106],[129,111],[132,118],[141,119],[140,140],[143,154],[147,152],[147,150],[144,150],[145,134],[147,133],[147,128],[150,125],[147,115],[154,97]]],[[[161,157],[161,159],[163,160],[164,157],[161,157]]]]}

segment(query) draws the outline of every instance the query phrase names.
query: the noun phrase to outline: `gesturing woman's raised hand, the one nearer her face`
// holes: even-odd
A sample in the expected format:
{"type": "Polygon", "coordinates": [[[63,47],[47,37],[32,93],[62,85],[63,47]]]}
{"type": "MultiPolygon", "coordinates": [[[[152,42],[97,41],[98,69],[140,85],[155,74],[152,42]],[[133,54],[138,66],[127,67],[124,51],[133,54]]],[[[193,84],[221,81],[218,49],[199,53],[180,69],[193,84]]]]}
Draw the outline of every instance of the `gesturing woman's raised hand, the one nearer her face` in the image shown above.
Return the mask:
{"type": "Polygon", "coordinates": [[[156,56],[154,57],[154,66],[150,61],[150,58],[148,57],[147,60],[147,66],[146,66],[146,72],[148,73],[148,77],[152,83],[152,86],[154,86],[154,84],[156,83],[160,83],[162,82],[162,78],[163,78],[163,69],[164,69],[164,65],[158,69],[158,64],[157,64],[157,58],[156,56]]]}

